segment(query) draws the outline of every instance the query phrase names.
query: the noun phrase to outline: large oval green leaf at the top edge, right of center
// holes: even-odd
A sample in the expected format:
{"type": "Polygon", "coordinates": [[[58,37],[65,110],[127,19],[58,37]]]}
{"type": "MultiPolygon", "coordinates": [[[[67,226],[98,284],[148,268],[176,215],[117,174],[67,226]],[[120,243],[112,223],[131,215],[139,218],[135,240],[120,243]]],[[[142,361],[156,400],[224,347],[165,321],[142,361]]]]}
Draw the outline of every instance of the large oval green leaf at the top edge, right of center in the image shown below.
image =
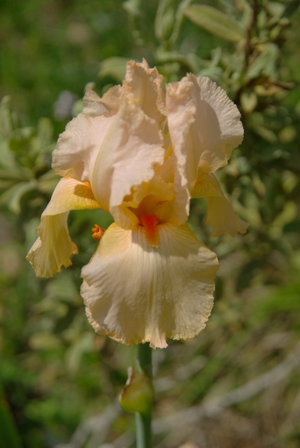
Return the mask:
{"type": "Polygon", "coordinates": [[[245,32],[236,20],[211,6],[189,6],[185,9],[185,15],[199,27],[227,41],[238,42],[245,37],[245,32]]]}

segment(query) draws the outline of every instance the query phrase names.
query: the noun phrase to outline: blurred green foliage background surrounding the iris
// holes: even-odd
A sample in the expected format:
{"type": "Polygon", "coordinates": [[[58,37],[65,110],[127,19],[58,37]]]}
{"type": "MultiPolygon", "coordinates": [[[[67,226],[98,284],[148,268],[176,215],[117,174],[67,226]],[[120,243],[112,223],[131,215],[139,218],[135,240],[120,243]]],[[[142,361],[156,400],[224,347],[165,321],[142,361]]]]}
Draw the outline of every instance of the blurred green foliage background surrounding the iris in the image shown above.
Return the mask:
{"type": "Polygon", "coordinates": [[[122,82],[128,59],[166,81],[210,76],[238,104],[245,139],[219,180],[248,234],[220,258],[206,330],[156,350],[159,448],[300,446],[300,35],[298,0],[2,0],[0,3],[0,448],[134,446],[116,397],[135,350],[94,335],[80,269],[99,211],[71,213],[73,266],[37,279],[25,255],[58,181],[51,153],[85,85],[122,82]]]}

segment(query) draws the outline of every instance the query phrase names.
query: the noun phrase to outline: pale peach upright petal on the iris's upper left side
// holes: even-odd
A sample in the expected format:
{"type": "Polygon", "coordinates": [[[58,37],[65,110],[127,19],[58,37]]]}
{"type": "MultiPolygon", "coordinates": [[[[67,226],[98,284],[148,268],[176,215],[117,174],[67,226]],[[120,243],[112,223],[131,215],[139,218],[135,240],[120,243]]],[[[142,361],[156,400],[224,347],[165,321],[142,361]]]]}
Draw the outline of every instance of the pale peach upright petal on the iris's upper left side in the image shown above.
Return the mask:
{"type": "Polygon", "coordinates": [[[83,113],[66,125],[52,153],[52,168],[59,176],[71,176],[83,182],[91,180],[94,160],[115,119],[118,95],[120,86],[113,87],[103,99],[87,89],[83,113]]]}

